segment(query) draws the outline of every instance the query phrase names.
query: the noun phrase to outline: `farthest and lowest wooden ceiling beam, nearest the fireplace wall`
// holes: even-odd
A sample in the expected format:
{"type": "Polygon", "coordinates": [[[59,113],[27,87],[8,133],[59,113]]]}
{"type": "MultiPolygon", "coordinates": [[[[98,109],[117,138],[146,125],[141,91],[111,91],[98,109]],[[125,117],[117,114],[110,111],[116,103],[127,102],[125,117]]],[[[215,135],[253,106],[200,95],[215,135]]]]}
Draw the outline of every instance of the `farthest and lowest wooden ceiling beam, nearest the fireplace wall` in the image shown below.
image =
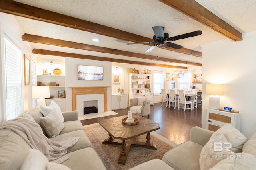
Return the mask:
{"type": "Polygon", "coordinates": [[[66,52],[60,52],[60,51],[50,51],[50,50],[44,50],[44,49],[33,49],[32,53],[33,54],[40,54],[40,55],[71,57],[71,58],[78,58],[78,59],[109,61],[109,62],[115,62],[115,63],[127,63],[127,64],[138,64],[138,65],[146,65],[146,66],[160,66],[160,67],[167,67],[167,68],[188,69],[187,67],[182,67],[182,66],[177,67],[177,66],[171,66],[171,65],[166,65],[166,64],[156,64],[156,63],[147,63],[147,62],[140,62],[140,61],[113,59],[113,58],[107,58],[107,57],[98,57],[98,56],[92,56],[92,55],[66,53],[66,52]]]}

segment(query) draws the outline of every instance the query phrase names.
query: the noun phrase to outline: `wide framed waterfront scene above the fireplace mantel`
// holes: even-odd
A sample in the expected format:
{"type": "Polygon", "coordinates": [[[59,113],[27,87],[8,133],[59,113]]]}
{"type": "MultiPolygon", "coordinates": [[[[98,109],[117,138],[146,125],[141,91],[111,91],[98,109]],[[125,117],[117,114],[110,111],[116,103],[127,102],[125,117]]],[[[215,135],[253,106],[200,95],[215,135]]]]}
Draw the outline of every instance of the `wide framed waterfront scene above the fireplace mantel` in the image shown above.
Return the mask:
{"type": "Polygon", "coordinates": [[[77,65],[78,80],[103,80],[103,67],[77,65]]]}

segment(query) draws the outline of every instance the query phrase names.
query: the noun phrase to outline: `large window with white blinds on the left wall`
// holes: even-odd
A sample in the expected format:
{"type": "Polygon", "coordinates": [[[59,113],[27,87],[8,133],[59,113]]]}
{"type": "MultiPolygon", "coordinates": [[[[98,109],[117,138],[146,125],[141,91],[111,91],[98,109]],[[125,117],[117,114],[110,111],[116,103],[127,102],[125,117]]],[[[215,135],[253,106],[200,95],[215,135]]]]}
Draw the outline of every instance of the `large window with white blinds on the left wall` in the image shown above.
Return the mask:
{"type": "Polygon", "coordinates": [[[21,50],[4,37],[4,70],[6,90],[6,120],[14,119],[23,111],[21,50]]]}

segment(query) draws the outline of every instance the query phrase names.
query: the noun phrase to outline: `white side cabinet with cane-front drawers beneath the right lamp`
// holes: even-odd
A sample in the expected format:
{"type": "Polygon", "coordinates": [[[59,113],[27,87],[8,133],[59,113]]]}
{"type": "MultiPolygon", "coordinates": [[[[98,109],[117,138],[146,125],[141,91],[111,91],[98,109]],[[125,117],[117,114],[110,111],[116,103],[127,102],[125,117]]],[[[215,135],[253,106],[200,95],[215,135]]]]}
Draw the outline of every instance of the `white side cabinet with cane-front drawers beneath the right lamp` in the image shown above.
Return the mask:
{"type": "Polygon", "coordinates": [[[240,115],[241,113],[206,109],[206,129],[216,131],[229,123],[240,131],[240,115]]]}

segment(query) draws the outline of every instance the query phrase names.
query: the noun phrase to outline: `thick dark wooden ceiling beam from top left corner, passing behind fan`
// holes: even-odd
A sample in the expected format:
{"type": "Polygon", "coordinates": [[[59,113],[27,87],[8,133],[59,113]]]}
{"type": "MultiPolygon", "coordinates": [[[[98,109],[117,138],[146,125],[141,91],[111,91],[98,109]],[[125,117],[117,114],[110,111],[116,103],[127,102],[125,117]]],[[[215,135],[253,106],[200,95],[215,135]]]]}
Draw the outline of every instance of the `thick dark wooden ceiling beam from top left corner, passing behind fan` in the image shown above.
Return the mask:
{"type": "MultiPolygon", "coordinates": [[[[91,33],[96,33],[100,35],[105,35],[109,37],[114,37],[117,39],[123,39],[132,42],[147,42],[152,41],[151,38],[142,37],[133,33],[128,33],[119,29],[114,29],[97,23],[93,23],[86,20],[81,20],[71,16],[66,16],[64,14],[59,14],[57,12],[52,12],[49,10],[44,10],[42,8],[37,8],[27,4],[22,4],[20,2],[15,2],[12,0],[0,0],[0,12],[5,12],[8,14],[13,14],[16,16],[22,16],[38,21],[44,21],[56,25],[61,25],[64,27],[70,27],[74,29],[79,29],[82,31],[88,31],[91,33]]],[[[146,45],[146,44],[145,44],[146,45]]],[[[150,45],[150,44],[147,44],[150,45]]],[[[151,45],[150,45],[151,46],[151,45]]],[[[181,49],[173,49],[168,46],[161,46],[160,48],[175,51],[178,53],[183,53],[187,55],[193,55],[196,57],[202,57],[202,53],[182,47],[181,49]]]]}

